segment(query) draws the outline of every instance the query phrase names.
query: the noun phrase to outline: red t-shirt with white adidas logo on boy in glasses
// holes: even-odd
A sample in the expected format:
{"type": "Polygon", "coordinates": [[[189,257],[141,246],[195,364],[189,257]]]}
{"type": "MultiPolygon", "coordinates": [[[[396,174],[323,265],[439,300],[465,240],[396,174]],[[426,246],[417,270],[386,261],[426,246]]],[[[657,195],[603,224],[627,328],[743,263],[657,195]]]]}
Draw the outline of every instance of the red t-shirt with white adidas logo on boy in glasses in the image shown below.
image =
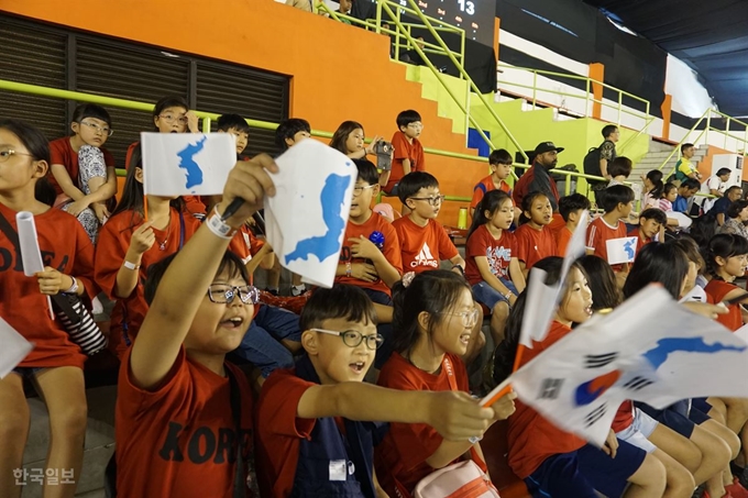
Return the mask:
{"type": "Polygon", "coordinates": [[[438,269],[442,259],[451,259],[459,254],[444,228],[436,220],[418,226],[410,217],[403,217],[395,220],[393,226],[400,242],[405,273],[438,269]]]}

